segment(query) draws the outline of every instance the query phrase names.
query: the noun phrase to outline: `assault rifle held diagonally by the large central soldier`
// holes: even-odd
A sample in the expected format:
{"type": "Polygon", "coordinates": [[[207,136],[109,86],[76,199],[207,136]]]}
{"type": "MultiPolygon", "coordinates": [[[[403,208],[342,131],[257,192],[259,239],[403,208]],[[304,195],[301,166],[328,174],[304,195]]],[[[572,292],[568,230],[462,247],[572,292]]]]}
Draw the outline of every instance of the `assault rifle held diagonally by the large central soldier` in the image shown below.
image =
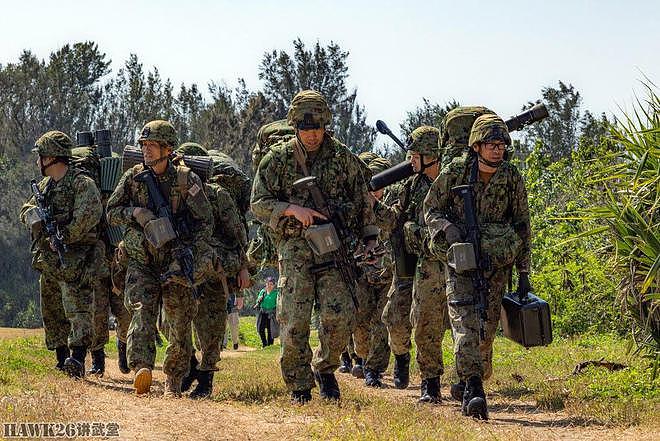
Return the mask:
{"type": "MultiPolygon", "coordinates": [[[[329,246],[330,249],[334,249],[334,251],[332,251],[334,257],[333,261],[316,265],[312,269],[312,272],[321,272],[328,268],[337,268],[344,284],[346,284],[346,287],[350,291],[353,303],[357,308],[357,280],[360,275],[357,272],[355,261],[353,260],[352,255],[349,254],[348,248],[343,240],[348,236],[344,216],[339,211],[333,212],[330,210],[325,197],[323,196],[323,192],[316,182],[316,176],[307,176],[298,179],[293,183],[293,186],[296,189],[304,189],[309,192],[314,201],[314,208],[328,218],[328,223],[334,226],[335,230],[334,237],[332,237],[332,235],[325,235],[321,238],[322,241],[325,242],[324,245],[329,246]]],[[[322,225],[322,223],[318,222],[315,223],[315,225],[322,225]]]]}

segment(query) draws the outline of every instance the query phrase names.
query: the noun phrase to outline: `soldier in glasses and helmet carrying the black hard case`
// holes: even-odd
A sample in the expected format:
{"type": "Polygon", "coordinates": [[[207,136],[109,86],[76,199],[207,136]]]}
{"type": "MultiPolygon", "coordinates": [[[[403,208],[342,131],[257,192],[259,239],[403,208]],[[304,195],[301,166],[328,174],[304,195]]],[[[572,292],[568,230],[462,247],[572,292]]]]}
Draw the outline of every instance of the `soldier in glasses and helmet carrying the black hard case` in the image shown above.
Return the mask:
{"type": "Polygon", "coordinates": [[[527,192],[520,172],[504,160],[505,149],[510,144],[511,138],[501,118],[493,114],[478,117],[470,131],[471,154],[446,166],[424,201],[429,248],[446,260],[448,247],[462,242],[466,233],[462,199],[451,190],[461,184],[473,186],[482,252],[490,256],[490,268],[484,274],[489,294],[483,341],[479,341],[479,317],[469,272],[457,274],[447,266],[447,298],[456,370],[465,384],[462,410],[465,415],[483,419],[488,418],[488,410],[482,381],[492,373],[492,344],[514,263],[520,276],[518,290],[524,293],[530,290],[527,192]]]}

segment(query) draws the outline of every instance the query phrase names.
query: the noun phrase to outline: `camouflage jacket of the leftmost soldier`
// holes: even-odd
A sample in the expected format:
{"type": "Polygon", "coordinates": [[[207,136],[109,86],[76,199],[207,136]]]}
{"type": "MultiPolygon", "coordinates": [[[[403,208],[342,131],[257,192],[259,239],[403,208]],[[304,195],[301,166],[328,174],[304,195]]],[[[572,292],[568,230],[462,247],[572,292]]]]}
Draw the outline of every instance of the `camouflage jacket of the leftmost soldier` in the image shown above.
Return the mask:
{"type": "MultiPolygon", "coordinates": [[[[67,246],[65,263],[67,267],[75,268],[96,244],[96,227],[103,213],[99,190],[92,178],[73,167],[69,167],[59,181],[46,177],[38,186],[67,246]]],[[[21,208],[21,222],[27,221],[26,214],[34,207],[36,201],[32,196],[21,208]]],[[[59,267],[57,253],[50,249],[43,229],[33,231],[32,251],[35,269],[44,271],[59,267]]]]}

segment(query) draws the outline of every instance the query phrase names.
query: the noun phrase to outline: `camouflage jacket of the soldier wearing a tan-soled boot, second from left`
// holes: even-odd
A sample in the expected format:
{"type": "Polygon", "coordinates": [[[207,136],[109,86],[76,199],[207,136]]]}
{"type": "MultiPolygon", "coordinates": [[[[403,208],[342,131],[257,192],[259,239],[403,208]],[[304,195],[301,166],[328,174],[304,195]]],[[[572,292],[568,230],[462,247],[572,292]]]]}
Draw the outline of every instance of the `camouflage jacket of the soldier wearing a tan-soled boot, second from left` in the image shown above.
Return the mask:
{"type": "MultiPolygon", "coordinates": [[[[182,173],[181,169],[184,168],[169,162],[165,173],[158,176],[158,181],[163,195],[171,205],[174,205],[174,200],[179,201],[178,209],[173,208],[172,211],[175,216],[185,216],[191,235],[183,239],[193,245],[193,253],[199,266],[202,265],[200,259],[211,259],[208,242],[213,234],[213,211],[203,191],[202,181],[194,172],[189,171],[185,185],[179,185],[179,173],[182,173]]],[[[159,250],[153,248],[145,239],[142,227],[133,218],[133,209],[136,207],[154,210],[149,204],[146,184],[133,179],[143,170],[144,166],[138,164],[127,170],[119,180],[117,188],[108,200],[108,223],[125,227],[124,245],[130,259],[143,265],[156,264],[163,269],[173,259],[171,244],[166,244],[159,250]]]]}

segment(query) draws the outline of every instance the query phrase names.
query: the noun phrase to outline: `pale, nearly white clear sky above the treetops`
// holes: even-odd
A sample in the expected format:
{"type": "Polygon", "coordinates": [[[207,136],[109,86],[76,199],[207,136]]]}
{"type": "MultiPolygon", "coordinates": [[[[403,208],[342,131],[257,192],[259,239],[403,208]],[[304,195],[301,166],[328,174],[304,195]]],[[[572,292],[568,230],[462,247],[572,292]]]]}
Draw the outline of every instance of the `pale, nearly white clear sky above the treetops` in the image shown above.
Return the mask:
{"type": "Polygon", "coordinates": [[[298,36],[348,50],[368,122],[390,127],[422,97],[506,117],[562,80],[613,113],[641,72],[660,81],[659,1],[21,1],[0,15],[0,63],[93,40],[115,69],[136,53],[175,84],[259,88],[263,53],[298,36]]]}

